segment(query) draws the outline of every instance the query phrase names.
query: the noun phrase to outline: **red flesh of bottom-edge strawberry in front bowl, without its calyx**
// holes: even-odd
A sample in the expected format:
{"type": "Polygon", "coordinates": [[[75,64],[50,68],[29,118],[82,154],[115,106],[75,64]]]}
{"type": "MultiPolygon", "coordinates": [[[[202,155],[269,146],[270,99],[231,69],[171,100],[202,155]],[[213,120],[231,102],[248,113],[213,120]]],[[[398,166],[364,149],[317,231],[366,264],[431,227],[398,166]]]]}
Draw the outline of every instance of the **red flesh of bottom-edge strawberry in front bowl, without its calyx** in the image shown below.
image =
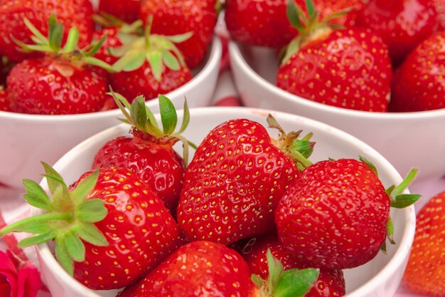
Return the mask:
{"type": "Polygon", "coordinates": [[[118,297],[248,297],[251,288],[249,267],[240,254],[215,242],[192,241],[118,297]]]}

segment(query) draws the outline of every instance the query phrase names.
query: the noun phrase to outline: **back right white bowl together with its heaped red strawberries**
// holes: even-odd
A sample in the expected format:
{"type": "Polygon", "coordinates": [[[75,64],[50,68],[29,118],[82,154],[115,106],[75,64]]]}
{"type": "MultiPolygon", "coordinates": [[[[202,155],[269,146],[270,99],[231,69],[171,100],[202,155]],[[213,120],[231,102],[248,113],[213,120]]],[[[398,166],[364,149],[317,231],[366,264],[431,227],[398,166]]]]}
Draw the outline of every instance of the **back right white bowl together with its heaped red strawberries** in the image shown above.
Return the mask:
{"type": "Polygon", "coordinates": [[[227,1],[242,103],[339,127],[400,172],[419,167],[419,179],[444,176],[445,162],[437,162],[445,150],[440,1],[305,2],[269,9],[264,1],[257,9],[227,1]],[[272,21],[257,32],[242,23],[247,10],[272,21]]]}

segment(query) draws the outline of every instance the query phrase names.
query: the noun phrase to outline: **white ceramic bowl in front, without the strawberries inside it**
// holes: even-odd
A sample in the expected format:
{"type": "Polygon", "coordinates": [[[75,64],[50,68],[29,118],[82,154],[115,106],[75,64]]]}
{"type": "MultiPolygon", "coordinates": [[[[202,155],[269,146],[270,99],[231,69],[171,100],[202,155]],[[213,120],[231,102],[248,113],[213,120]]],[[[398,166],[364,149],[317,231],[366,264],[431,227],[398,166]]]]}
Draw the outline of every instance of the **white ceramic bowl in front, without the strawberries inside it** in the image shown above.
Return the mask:
{"type": "MultiPolygon", "coordinates": [[[[266,118],[269,110],[254,108],[194,108],[191,110],[191,121],[184,136],[198,144],[216,125],[233,118],[250,118],[267,126],[266,118]]],[[[313,132],[315,150],[311,156],[313,162],[326,160],[328,157],[341,158],[358,155],[367,157],[379,170],[380,179],[385,187],[399,184],[402,177],[382,155],[357,138],[329,125],[315,120],[302,118],[289,113],[271,112],[284,130],[313,132]]],[[[159,118],[159,117],[158,117],[159,118]]],[[[105,142],[120,135],[127,135],[129,126],[122,124],[98,133],[77,145],[58,162],[55,170],[65,178],[68,184],[75,181],[83,172],[90,170],[95,152],[105,142]]],[[[269,129],[272,137],[277,137],[277,130],[269,129]]],[[[193,150],[192,150],[193,152],[193,150]]],[[[41,185],[47,189],[45,180],[41,185]]],[[[36,209],[33,213],[36,214],[36,209]]],[[[392,296],[399,286],[407,256],[412,246],[415,228],[414,207],[392,212],[395,224],[395,240],[397,245],[388,247],[388,254],[380,253],[375,259],[364,266],[345,271],[348,297],[392,296]]],[[[58,297],[114,297],[117,291],[93,292],[68,276],[61,268],[47,244],[37,248],[43,276],[53,296],[58,297]]]]}

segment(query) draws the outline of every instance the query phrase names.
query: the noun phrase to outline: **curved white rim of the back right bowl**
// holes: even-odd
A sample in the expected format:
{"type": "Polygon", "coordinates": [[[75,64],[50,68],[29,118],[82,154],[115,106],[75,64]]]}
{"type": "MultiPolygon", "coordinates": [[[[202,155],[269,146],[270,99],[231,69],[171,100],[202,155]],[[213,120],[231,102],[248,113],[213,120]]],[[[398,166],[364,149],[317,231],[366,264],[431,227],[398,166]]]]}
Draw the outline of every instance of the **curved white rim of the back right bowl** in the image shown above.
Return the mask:
{"type": "MultiPolygon", "coordinates": [[[[282,90],[278,88],[277,85],[270,83],[268,80],[263,78],[259,73],[254,71],[252,67],[250,67],[249,63],[247,63],[246,59],[242,55],[242,46],[247,46],[243,43],[237,41],[229,41],[228,50],[230,53],[230,61],[231,63],[236,64],[243,73],[249,75],[251,80],[254,80],[257,85],[262,85],[263,88],[269,90],[278,98],[283,98],[286,101],[291,103],[298,103],[300,105],[304,105],[306,108],[311,108],[312,110],[321,110],[325,113],[333,113],[341,116],[348,116],[350,118],[370,118],[376,120],[412,120],[412,119],[431,119],[431,118],[443,118],[445,117],[445,108],[439,110],[426,110],[426,111],[417,111],[417,112],[406,112],[406,113],[372,113],[363,110],[350,110],[348,108],[339,108],[336,106],[326,105],[323,103],[318,103],[309,99],[302,98],[298,95],[294,95],[292,93],[287,92],[286,90],[282,90]]],[[[248,46],[247,46],[248,47],[248,46]]],[[[254,48],[265,48],[254,46],[254,48]]],[[[236,73],[234,71],[234,76],[236,77],[236,73]]],[[[236,79],[235,79],[236,80],[236,79]]]]}

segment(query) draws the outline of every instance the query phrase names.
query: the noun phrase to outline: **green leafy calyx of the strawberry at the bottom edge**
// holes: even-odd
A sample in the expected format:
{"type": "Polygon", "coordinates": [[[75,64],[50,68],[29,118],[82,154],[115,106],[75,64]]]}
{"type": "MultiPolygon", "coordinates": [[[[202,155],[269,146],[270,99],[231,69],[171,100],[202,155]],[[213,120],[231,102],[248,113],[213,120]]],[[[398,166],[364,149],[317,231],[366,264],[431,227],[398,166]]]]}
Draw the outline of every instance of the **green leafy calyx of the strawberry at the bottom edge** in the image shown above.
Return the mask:
{"type": "Polygon", "coordinates": [[[288,269],[267,249],[267,267],[269,276],[266,280],[252,274],[252,282],[256,286],[255,297],[299,297],[305,296],[316,282],[318,269],[288,269]]]}

